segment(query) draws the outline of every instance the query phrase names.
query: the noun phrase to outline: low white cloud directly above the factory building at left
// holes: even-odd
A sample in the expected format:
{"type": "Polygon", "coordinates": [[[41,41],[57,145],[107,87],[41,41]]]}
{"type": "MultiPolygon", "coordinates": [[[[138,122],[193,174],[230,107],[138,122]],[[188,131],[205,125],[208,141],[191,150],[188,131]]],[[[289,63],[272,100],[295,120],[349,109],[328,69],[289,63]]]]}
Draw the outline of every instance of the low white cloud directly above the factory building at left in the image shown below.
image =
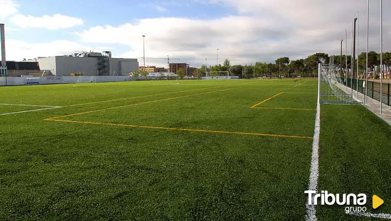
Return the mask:
{"type": "Polygon", "coordinates": [[[6,40],[7,60],[21,61],[35,57],[62,56],[81,51],[101,51],[77,42],[57,40],[49,43],[30,43],[21,40],[6,40]]]}

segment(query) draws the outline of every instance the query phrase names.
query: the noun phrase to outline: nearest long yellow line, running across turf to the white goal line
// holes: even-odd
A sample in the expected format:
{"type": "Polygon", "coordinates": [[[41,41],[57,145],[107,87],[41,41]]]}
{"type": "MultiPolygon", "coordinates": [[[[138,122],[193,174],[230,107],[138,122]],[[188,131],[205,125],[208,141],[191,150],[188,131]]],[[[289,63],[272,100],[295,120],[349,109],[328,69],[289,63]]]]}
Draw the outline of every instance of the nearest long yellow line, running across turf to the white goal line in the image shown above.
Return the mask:
{"type": "Polygon", "coordinates": [[[264,134],[264,133],[232,132],[232,131],[217,131],[217,130],[199,130],[199,129],[184,129],[184,128],[170,128],[170,127],[152,127],[152,126],[138,126],[138,125],[128,125],[128,124],[111,124],[111,123],[67,121],[67,120],[53,120],[53,119],[45,119],[45,120],[46,121],[71,122],[71,123],[83,123],[83,124],[95,124],[95,125],[110,125],[110,126],[123,126],[123,127],[135,127],[135,128],[148,128],[148,129],[181,130],[181,131],[191,131],[191,132],[227,133],[227,134],[240,134],[240,135],[256,135],[256,136],[274,136],[274,137],[289,137],[289,138],[313,139],[313,137],[310,137],[310,136],[291,136],[291,135],[264,134]]]}

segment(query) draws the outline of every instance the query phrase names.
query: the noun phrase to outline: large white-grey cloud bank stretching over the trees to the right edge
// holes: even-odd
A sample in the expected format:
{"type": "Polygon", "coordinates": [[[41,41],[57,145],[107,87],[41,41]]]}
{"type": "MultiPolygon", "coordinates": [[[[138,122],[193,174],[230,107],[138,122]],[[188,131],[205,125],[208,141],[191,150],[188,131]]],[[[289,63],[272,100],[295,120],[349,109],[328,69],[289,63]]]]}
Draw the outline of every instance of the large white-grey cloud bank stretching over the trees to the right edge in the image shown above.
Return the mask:
{"type": "MultiPolygon", "coordinates": [[[[232,7],[239,15],[216,19],[148,18],[119,26],[90,27],[78,35],[86,43],[128,45],[131,50],[123,55],[132,58],[142,57],[141,35],[145,35],[145,57],[165,58],[169,54],[194,65],[204,64],[205,58],[215,64],[216,48],[219,48],[219,60],[228,58],[231,63],[274,61],[282,56],[294,60],[315,52],[339,54],[340,39],[345,39],[345,29],[350,32],[350,20],[358,9],[360,51],[365,49],[366,1],[212,0],[203,3],[232,7]],[[352,10],[352,6],[356,8],[352,10]]],[[[391,6],[391,2],[386,4],[383,3],[384,8],[391,6]]],[[[370,49],[377,50],[376,4],[371,13],[370,49]]],[[[384,14],[383,21],[387,19],[391,20],[391,16],[384,14]]],[[[383,24],[383,38],[390,39],[391,26],[383,24]]],[[[390,46],[391,42],[384,41],[384,49],[391,50],[390,46]]],[[[151,59],[146,62],[162,64],[151,59]]]]}

